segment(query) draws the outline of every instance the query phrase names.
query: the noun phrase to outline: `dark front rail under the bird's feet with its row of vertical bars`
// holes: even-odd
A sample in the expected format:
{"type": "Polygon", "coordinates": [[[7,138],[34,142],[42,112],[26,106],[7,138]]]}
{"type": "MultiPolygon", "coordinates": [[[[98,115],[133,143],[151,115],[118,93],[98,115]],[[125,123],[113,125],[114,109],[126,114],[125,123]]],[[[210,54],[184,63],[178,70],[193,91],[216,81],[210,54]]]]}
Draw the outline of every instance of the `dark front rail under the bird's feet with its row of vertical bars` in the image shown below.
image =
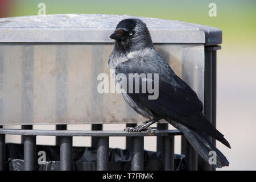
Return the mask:
{"type": "Polygon", "coordinates": [[[36,136],[56,136],[60,146],[60,170],[72,170],[73,137],[94,137],[97,143],[97,170],[109,169],[109,137],[131,137],[133,157],[131,170],[143,170],[144,137],[163,138],[163,169],[174,170],[174,137],[178,130],[159,130],[158,133],[127,133],[125,131],[76,131],[76,130],[23,130],[0,129],[0,170],[5,166],[5,135],[22,135],[24,144],[24,170],[35,170],[36,136]]]}

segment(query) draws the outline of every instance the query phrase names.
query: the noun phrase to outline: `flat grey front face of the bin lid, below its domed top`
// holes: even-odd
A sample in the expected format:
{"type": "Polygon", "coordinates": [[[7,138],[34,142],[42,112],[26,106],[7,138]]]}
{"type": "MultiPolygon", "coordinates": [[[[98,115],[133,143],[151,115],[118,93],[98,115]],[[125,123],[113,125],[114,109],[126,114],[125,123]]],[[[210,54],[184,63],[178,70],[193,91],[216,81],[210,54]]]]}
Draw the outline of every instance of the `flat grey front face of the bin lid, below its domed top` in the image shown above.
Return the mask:
{"type": "MultiPolygon", "coordinates": [[[[118,23],[118,22],[117,22],[118,23]]],[[[0,42],[42,43],[113,43],[109,36],[114,28],[103,30],[90,28],[0,28],[0,42]],[[38,29],[38,30],[36,30],[38,29]],[[8,31],[7,31],[8,30],[8,31]]],[[[204,43],[204,32],[197,29],[149,28],[155,43],[204,43]]]]}

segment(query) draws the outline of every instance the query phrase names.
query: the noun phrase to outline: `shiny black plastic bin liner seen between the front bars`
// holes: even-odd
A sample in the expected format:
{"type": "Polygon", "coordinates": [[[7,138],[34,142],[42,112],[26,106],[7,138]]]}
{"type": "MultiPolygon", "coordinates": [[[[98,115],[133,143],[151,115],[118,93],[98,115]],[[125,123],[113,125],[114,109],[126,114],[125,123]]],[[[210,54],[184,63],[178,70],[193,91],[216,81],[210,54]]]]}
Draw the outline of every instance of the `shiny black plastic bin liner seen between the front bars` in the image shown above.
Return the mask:
{"type": "MultiPolygon", "coordinates": [[[[38,171],[59,171],[60,169],[60,147],[59,146],[36,146],[36,154],[39,151],[46,152],[46,164],[38,164],[38,171]]],[[[96,148],[73,147],[73,170],[92,171],[96,170],[96,148]]],[[[109,170],[122,171],[131,168],[131,150],[109,148],[109,170]]],[[[37,156],[37,160],[40,156],[37,156]]],[[[162,152],[144,150],[144,169],[148,171],[162,170],[162,152]]],[[[6,167],[7,171],[23,170],[23,144],[6,143],[6,167]]],[[[185,156],[175,154],[175,170],[187,170],[185,156]]]]}

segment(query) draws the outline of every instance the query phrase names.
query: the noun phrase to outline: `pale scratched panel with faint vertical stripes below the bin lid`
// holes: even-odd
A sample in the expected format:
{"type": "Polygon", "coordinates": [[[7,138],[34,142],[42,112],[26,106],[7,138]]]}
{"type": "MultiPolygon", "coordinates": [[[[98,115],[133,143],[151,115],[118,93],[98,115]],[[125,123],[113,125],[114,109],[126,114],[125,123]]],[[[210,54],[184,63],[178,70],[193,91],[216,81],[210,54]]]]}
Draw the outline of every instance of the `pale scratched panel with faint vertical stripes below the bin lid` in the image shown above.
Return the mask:
{"type": "MultiPolygon", "coordinates": [[[[203,101],[204,45],[155,47],[203,101]]],[[[111,43],[1,43],[0,125],[143,122],[120,94],[97,92],[98,74],[110,74],[112,49],[111,43]]]]}

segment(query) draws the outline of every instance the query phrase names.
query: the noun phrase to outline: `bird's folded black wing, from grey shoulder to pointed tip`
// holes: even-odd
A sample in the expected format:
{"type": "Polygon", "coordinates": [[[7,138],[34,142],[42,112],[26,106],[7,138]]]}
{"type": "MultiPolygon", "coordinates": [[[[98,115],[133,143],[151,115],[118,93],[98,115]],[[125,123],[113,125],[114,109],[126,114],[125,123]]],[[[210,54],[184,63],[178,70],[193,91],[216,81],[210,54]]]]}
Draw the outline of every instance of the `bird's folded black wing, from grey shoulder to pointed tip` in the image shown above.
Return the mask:
{"type": "MultiPolygon", "coordinates": [[[[203,104],[196,93],[189,85],[175,75],[170,66],[161,57],[160,59],[151,59],[150,57],[144,57],[143,60],[130,59],[119,64],[115,68],[115,73],[123,73],[127,79],[129,79],[129,73],[138,73],[138,75],[141,73],[146,75],[152,73],[153,82],[156,81],[154,80],[154,73],[158,73],[159,97],[156,100],[149,100],[148,96],[151,94],[148,92],[127,93],[130,98],[135,102],[140,102],[140,105],[144,105],[157,116],[175,119],[176,122],[189,129],[202,131],[230,147],[228,141],[224,139],[224,135],[216,130],[201,113],[203,104]]],[[[147,80],[141,79],[139,82],[140,87],[142,82],[147,80]]],[[[128,83],[129,80],[127,81],[127,88],[129,88],[128,83]]]]}

